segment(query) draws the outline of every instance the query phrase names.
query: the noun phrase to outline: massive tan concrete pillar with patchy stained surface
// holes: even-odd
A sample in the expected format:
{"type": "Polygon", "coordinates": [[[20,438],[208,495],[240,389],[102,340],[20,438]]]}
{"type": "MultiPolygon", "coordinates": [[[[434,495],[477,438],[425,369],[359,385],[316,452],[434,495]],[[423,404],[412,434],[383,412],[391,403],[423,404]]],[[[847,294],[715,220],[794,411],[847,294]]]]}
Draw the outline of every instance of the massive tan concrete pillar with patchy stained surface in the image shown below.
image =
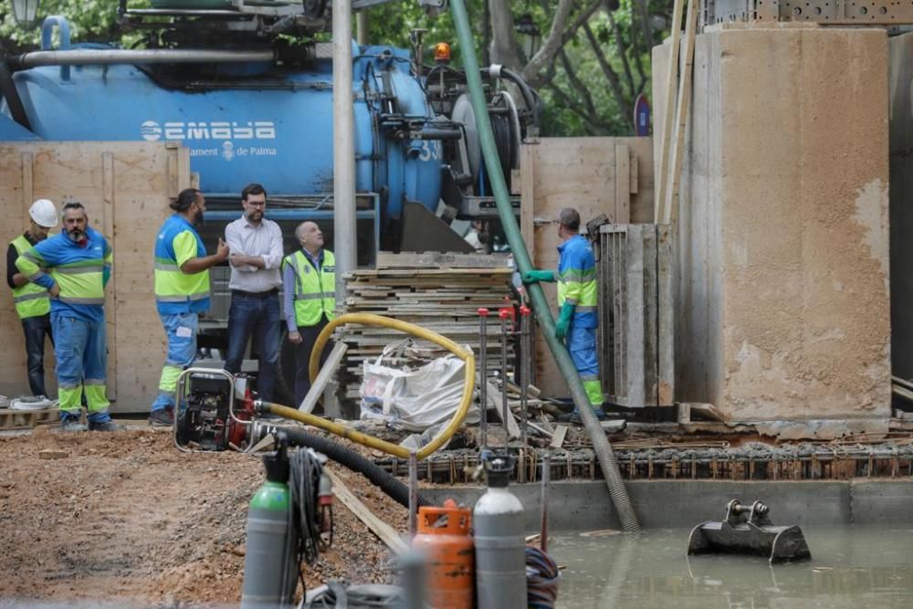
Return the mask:
{"type": "Polygon", "coordinates": [[[740,420],[887,415],[885,32],[716,26],[691,104],[677,399],[740,420]]]}

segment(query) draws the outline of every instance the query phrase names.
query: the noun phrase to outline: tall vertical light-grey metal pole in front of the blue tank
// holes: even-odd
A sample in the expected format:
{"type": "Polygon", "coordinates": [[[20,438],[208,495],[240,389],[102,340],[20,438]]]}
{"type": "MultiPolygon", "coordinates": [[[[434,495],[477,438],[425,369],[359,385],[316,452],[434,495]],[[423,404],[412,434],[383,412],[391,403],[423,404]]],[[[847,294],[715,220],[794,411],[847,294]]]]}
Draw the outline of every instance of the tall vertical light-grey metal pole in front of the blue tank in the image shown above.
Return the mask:
{"type": "Polygon", "coordinates": [[[333,0],[333,253],[336,303],[355,268],[355,105],[352,97],[352,0],[333,0]]]}

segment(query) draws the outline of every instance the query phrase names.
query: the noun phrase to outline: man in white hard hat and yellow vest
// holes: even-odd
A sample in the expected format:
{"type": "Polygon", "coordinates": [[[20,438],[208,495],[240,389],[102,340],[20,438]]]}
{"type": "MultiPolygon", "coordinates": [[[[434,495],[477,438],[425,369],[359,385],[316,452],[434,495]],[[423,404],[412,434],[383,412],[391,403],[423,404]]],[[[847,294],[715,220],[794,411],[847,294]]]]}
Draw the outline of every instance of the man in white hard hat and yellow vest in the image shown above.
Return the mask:
{"type": "Polygon", "coordinates": [[[51,335],[51,303],[47,289],[30,282],[16,268],[16,258],[25,254],[40,241],[47,239],[49,229],[58,225],[57,207],[47,199],[38,199],[28,209],[28,230],[17,236],[6,250],[6,283],[13,289],[16,314],[22,320],[26,334],[26,366],[28,386],[34,395],[47,395],[45,390],[45,336],[51,335]]]}

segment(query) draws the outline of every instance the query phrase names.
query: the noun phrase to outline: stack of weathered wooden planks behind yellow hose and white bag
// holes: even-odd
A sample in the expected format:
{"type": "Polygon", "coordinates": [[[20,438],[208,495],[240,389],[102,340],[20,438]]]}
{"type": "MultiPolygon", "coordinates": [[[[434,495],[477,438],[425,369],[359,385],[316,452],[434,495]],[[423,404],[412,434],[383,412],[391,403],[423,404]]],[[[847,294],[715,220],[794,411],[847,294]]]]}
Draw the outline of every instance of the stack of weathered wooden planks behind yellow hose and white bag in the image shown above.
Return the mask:
{"type": "MultiPolygon", "coordinates": [[[[404,320],[469,346],[478,357],[479,308],[491,310],[488,317],[488,372],[500,369],[501,327],[498,309],[513,306],[510,279],[513,269],[504,255],[387,254],[378,255],[376,269],[356,270],[346,276],[346,313],[374,313],[404,320]]],[[[358,401],[362,362],[376,360],[388,344],[407,335],[387,328],[349,325],[340,329],[338,340],[349,344],[337,381],[340,397],[358,401]]],[[[421,365],[446,352],[437,345],[415,340],[415,349],[395,365],[421,365]]],[[[508,369],[514,365],[508,346],[508,369]]]]}

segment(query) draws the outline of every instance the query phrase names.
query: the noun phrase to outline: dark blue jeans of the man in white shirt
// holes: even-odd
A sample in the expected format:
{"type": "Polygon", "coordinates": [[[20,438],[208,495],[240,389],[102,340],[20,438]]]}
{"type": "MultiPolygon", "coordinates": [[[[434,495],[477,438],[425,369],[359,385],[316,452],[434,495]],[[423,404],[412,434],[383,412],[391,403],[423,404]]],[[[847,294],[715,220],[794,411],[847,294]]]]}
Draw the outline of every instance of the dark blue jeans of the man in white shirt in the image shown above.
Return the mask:
{"type": "Polygon", "coordinates": [[[250,296],[233,291],[228,310],[228,355],[226,370],[241,372],[247,341],[254,339],[259,366],[257,368],[257,394],[261,400],[273,401],[278,379],[279,327],[278,294],[250,296]]]}

